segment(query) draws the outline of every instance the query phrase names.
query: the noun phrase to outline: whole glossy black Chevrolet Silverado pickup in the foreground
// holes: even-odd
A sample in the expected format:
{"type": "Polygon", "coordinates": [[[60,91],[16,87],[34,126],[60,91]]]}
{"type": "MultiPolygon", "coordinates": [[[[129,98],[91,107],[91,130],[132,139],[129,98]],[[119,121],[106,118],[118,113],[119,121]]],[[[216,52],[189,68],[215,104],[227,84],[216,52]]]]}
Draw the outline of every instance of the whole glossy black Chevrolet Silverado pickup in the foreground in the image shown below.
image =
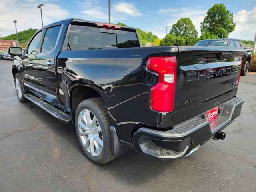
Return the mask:
{"type": "Polygon", "coordinates": [[[210,138],[223,140],[244,102],[236,96],[241,48],[142,48],[134,28],[68,19],[38,30],[24,52],[8,52],[20,102],[75,124],[98,164],[130,148],[188,156],[210,138]]]}

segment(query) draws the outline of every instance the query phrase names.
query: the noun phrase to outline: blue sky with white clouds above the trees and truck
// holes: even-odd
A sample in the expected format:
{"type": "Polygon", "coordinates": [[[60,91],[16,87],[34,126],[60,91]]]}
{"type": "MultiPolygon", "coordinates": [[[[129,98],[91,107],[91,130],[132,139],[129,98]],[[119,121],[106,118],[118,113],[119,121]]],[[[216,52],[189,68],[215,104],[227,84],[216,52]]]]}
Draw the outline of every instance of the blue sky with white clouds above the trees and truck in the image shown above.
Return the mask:
{"type": "MultiPolygon", "coordinates": [[[[15,33],[13,20],[17,20],[18,32],[40,28],[39,3],[44,4],[44,25],[66,18],[108,22],[108,0],[0,0],[0,36],[15,33]]],[[[229,38],[254,40],[256,0],[111,0],[111,22],[152,31],[164,38],[164,26],[171,27],[180,18],[188,17],[200,36],[200,22],[215,3],[224,3],[234,14],[236,28],[229,38]]]]}

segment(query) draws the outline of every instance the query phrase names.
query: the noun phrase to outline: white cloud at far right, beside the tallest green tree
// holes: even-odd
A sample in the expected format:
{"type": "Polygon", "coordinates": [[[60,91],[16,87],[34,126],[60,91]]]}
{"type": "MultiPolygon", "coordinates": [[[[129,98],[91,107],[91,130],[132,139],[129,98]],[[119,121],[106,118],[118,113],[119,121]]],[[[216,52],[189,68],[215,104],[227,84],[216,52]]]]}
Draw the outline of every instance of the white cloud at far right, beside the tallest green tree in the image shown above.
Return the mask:
{"type": "Polygon", "coordinates": [[[230,38],[254,40],[256,32],[256,7],[251,11],[243,9],[234,14],[234,22],[236,23],[236,28],[234,32],[230,33],[230,38]]]}

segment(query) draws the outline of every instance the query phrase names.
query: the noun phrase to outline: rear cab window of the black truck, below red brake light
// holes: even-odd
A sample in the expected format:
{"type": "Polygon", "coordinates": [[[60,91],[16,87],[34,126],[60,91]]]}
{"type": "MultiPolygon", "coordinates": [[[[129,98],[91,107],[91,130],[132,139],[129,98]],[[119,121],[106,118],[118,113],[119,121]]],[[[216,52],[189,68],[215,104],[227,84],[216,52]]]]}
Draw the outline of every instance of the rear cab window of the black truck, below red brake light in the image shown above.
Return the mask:
{"type": "Polygon", "coordinates": [[[139,47],[135,32],[71,25],[66,50],[139,47]]]}

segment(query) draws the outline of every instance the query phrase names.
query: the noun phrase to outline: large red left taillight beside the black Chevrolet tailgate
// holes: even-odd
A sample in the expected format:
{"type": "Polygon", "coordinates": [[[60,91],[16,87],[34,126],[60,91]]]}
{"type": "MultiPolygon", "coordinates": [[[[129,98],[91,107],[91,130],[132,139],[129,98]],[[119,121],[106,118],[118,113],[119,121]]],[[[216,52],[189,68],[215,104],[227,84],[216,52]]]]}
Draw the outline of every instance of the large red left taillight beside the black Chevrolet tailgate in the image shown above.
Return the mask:
{"type": "Polygon", "coordinates": [[[151,57],[147,69],[158,74],[158,82],[150,90],[150,107],[156,112],[174,109],[176,57],[151,57]]]}

